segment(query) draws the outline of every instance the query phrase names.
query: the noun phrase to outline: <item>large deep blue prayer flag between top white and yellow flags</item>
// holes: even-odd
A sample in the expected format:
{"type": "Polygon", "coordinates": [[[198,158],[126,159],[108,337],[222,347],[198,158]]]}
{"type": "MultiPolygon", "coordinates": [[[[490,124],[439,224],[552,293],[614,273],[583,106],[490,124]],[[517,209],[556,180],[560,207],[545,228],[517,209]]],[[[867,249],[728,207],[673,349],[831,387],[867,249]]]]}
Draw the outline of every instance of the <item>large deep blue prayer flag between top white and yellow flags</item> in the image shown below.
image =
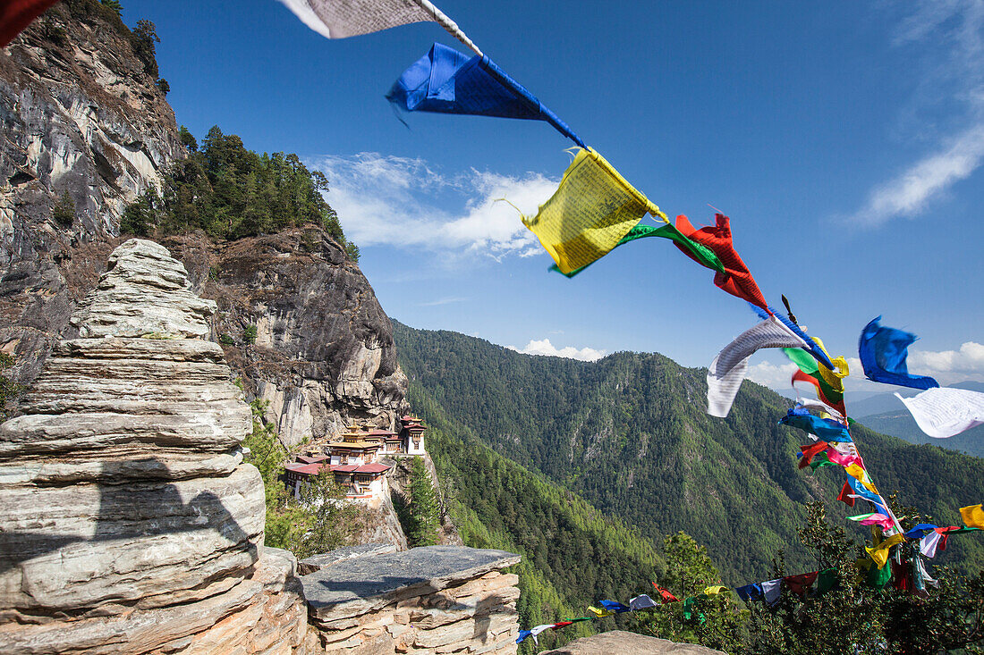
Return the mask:
{"type": "Polygon", "coordinates": [[[567,123],[491,59],[440,43],[403,71],[386,98],[406,111],[546,121],[586,148],[567,123]]]}

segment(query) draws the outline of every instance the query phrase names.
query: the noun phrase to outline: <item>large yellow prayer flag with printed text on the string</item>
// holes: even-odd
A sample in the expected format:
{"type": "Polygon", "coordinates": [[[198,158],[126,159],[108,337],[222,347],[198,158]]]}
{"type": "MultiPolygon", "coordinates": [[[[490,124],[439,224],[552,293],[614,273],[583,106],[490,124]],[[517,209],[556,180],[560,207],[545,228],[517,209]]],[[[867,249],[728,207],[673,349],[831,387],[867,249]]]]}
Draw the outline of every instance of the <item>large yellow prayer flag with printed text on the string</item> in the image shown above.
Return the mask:
{"type": "Polygon", "coordinates": [[[554,195],[535,216],[523,216],[523,224],[567,274],[607,254],[646,211],[666,220],[666,214],[588,148],[579,150],[554,195]]]}

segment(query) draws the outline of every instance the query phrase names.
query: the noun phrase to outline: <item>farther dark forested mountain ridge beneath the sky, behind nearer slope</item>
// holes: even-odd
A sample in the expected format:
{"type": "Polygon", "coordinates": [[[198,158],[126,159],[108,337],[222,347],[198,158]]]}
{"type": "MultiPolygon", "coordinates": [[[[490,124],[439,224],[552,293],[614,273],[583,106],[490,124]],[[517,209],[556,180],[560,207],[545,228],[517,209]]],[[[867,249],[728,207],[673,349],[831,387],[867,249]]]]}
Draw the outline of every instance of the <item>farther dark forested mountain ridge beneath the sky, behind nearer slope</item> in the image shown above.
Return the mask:
{"type": "MultiPolygon", "coordinates": [[[[803,504],[824,500],[845,513],[833,501],[842,472],[797,470],[807,437],[777,425],[790,401],[766,387],[746,383],[730,416],[717,419],[705,413],[706,372],[658,354],[537,357],[397,322],[394,337],[411,388],[483,443],[654,541],[688,532],[707,544],[726,583],[763,579],[780,549],[791,569],[810,570],[796,540],[803,504]]],[[[984,460],[861,427],[854,435],[876,483],[898,490],[904,505],[951,524],[957,507],[980,502],[984,460]]],[[[974,536],[945,555],[981,566],[984,543],[974,536]]]]}

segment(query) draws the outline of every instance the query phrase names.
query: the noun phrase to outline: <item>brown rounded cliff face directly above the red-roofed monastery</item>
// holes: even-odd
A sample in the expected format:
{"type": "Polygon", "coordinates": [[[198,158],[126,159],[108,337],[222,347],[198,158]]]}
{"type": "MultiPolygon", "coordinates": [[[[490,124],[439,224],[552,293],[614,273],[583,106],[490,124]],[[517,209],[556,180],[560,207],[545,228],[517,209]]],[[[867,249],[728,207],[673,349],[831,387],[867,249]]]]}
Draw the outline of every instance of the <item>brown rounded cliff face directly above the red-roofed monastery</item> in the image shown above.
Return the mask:
{"type": "Polygon", "coordinates": [[[268,401],[287,447],[351,421],[395,429],[406,378],[393,327],[359,268],[316,228],[213,244],[163,240],[218,303],[214,337],[268,401]],[[256,327],[255,343],[244,338],[256,327]]]}

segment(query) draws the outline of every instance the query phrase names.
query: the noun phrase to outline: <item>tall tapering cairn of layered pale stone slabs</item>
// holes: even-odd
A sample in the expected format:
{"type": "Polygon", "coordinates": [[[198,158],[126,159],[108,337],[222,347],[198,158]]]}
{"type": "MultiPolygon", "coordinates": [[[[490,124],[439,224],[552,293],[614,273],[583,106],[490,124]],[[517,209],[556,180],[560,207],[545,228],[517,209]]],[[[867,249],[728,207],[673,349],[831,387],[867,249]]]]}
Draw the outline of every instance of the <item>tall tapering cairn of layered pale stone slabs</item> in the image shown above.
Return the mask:
{"type": "Polygon", "coordinates": [[[250,409],[200,338],[215,303],[190,286],[161,246],[123,244],[73,316],[90,336],[58,343],[0,426],[4,652],[307,638],[296,563],[262,549],[250,409]]]}

